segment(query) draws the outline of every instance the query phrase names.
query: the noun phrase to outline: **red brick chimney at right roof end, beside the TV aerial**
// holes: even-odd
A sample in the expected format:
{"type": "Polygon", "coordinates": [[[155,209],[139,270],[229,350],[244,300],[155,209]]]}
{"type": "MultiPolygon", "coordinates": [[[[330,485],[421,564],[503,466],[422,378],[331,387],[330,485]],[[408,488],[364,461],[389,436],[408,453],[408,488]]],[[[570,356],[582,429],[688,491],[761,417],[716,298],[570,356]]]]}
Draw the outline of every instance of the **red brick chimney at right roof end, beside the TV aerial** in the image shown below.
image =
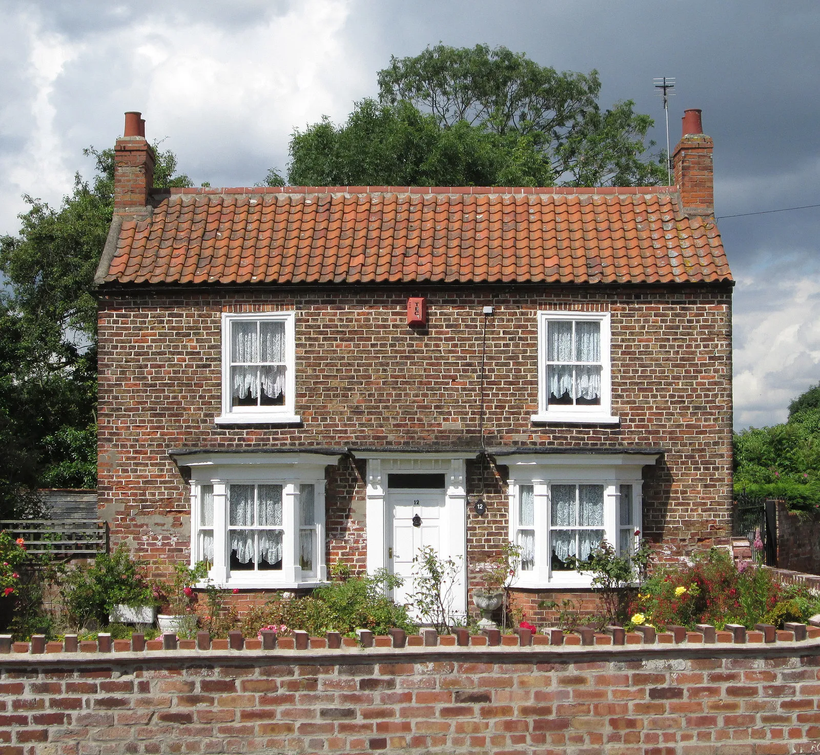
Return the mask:
{"type": "Polygon", "coordinates": [[[704,135],[699,110],[685,110],[683,135],[672,153],[675,183],[687,215],[713,216],[715,213],[711,137],[704,135]]]}

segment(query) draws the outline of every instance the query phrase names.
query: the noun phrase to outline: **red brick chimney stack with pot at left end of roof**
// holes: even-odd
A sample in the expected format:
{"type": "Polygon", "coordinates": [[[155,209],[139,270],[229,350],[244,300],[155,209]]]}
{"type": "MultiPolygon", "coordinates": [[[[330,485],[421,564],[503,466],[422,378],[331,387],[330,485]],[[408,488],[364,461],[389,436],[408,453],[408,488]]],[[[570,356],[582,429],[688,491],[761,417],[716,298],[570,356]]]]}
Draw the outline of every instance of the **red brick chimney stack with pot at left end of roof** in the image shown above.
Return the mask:
{"type": "Polygon", "coordinates": [[[140,112],[125,113],[125,132],[114,146],[114,215],[146,217],[156,156],[145,139],[140,112]]]}

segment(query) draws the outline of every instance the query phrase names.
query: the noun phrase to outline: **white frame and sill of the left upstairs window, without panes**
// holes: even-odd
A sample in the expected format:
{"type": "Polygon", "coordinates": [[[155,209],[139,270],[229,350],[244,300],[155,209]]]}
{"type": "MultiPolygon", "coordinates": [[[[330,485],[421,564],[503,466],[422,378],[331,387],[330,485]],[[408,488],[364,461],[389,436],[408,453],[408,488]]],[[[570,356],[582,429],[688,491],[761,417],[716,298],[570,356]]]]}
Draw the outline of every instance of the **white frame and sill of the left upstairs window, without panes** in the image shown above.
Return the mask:
{"type": "Polygon", "coordinates": [[[222,313],[222,414],[216,424],[286,424],[301,422],[296,414],[296,313],[222,313]],[[230,382],[230,327],[232,323],[285,323],[285,404],[282,406],[232,406],[230,382]]]}

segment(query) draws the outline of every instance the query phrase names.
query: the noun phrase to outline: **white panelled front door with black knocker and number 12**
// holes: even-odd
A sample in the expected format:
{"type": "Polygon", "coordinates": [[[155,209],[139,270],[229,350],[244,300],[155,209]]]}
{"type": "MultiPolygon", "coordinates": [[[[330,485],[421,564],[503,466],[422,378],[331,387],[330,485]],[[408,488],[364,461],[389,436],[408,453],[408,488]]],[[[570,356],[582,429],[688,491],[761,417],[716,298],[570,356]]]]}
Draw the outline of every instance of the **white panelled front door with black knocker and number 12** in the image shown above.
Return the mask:
{"type": "Polygon", "coordinates": [[[388,496],[393,535],[388,544],[388,561],[392,572],[404,580],[402,586],[394,590],[393,598],[412,609],[411,596],[417,590],[412,576],[413,559],[426,546],[432,547],[442,559],[449,556],[443,532],[444,492],[390,491],[388,496]],[[389,558],[391,552],[393,557],[389,558]]]}

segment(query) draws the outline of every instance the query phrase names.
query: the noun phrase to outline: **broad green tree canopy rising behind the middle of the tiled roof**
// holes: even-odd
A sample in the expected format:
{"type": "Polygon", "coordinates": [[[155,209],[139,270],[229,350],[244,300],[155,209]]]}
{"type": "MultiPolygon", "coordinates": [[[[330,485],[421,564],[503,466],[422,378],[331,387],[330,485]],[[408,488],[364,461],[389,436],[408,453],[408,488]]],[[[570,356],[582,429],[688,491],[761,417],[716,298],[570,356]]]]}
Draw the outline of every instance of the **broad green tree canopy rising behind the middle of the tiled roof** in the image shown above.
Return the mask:
{"type": "MultiPolygon", "coordinates": [[[[558,72],[507,48],[392,57],[378,100],[339,126],[295,130],[293,185],[654,185],[663,154],[631,100],[602,110],[597,71],[558,72]]],[[[267,185],[283,185],[271,169],[267,185]]]]}

